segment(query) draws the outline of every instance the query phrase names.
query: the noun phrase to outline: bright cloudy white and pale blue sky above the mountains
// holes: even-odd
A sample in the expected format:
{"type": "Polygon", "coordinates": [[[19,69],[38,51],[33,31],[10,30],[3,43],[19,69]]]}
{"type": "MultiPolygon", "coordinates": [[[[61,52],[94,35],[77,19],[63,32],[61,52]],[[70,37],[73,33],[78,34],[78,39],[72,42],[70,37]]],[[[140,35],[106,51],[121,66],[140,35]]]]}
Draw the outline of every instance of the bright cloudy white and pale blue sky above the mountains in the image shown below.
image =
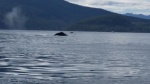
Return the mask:
{"type": "Polygon", "coordinates": [[[79,5],[103,8],[117,13],[150,15],[150,0],[66,0],[79,5]]]}

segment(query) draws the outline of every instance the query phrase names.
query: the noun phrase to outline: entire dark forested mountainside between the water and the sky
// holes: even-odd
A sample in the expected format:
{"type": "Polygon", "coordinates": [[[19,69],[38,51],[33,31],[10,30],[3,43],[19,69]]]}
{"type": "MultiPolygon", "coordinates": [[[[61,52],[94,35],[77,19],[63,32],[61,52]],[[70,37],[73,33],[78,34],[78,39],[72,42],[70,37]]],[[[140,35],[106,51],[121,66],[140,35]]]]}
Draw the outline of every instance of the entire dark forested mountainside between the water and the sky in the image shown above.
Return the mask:
{"type": "Polygon", "coordinates": [[[0,29],[150,32],[150,20],[64,0],[0,0],[0,29]]]}

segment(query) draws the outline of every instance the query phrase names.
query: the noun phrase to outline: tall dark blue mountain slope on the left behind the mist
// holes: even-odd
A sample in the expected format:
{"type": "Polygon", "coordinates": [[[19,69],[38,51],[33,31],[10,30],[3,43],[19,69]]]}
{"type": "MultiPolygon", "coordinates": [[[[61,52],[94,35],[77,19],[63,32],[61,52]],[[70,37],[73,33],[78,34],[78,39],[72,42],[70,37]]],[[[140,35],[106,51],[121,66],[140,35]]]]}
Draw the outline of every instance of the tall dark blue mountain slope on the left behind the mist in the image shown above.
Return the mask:
{"type": "Polygon", "coordinates": [[[1,29],[8,29],[8,26],[18,29],[25,26],[25,29],[63,30],[81,19],[109,14],[112,13],[71,4],[64,0],[0,0],[1,29]],[[26,18],[24,23],[20,22],[24,20],[21,17],[26,18]]]}

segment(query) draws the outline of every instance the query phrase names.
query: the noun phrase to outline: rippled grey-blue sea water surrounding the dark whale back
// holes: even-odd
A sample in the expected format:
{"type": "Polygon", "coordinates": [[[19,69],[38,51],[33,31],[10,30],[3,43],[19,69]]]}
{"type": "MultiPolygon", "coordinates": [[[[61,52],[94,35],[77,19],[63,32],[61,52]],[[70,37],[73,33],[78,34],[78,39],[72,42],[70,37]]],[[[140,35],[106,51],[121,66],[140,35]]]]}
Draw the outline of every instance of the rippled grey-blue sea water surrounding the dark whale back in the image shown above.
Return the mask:
{"type": "Polygon", "coordinates": [[[150,84],[150,33],[0,30],[0,84],[150,84]]]}

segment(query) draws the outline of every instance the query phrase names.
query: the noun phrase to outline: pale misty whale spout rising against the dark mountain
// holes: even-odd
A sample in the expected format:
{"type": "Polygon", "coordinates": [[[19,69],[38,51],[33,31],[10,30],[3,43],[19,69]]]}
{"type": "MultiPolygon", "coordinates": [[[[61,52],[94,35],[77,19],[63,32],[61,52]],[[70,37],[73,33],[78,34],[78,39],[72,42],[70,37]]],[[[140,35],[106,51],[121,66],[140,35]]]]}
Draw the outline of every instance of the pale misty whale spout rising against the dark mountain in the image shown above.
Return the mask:
{"type": "Polygon", "coordinates": [[[5,24],[10,29],[25,29],[27,17],[22,13],[21,8],[14,7],[5,16],[5,24]]]}

